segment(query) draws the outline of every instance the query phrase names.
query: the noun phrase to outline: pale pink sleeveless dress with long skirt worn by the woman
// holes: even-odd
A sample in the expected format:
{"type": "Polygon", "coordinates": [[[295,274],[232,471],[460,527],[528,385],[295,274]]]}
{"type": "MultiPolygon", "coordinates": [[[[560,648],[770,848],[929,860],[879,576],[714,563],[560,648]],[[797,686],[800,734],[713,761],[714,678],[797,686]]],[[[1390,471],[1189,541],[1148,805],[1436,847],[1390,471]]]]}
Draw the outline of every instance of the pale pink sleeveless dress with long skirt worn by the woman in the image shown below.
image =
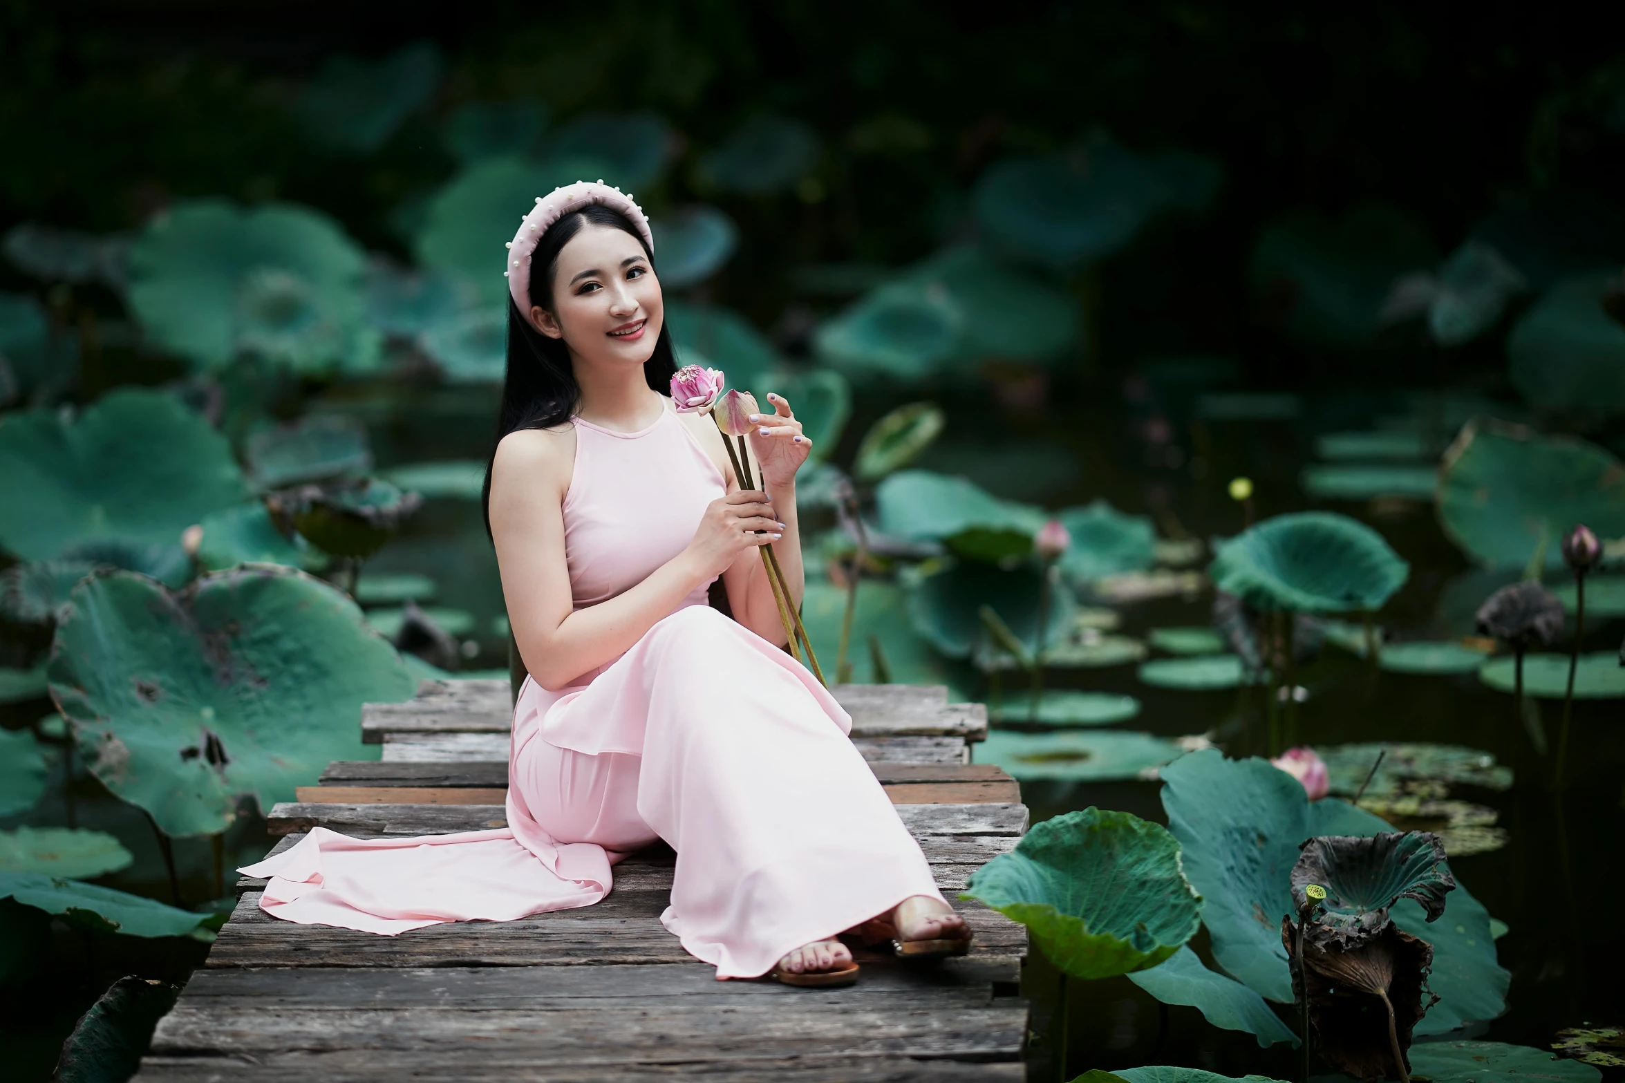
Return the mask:
{"type": "MultiPolygon", "coordinates": [[[[575,607],[676,557],[723,494],[670,403],[640,432],[577,419],[564,498],[575,607]]],[[[700,586],[577,685],[525,680],[509,826],[380,839],[315,828],[242,872],[270,877],[260,906],[275,917],[398,934],[592,906],[611,865],[660,838],[678,852],[661,924],[717,977],[756,977],[912,895],[942,898],[850,729],[806,667],[700,586]]]]}

